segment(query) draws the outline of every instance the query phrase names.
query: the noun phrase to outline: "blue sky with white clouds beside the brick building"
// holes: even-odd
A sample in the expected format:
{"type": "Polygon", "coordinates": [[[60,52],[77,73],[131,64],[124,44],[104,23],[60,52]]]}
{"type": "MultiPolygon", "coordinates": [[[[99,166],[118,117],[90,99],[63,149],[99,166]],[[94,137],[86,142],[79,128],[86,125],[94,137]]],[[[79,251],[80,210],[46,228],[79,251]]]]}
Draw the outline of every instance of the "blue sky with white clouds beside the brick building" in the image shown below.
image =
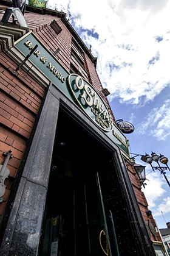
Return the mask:
{"type": "MultiPolygon", "coordinates": [[[[130,151],[170,159],[170,1],[49,0],[47,7],[70,14],[70,24],[92,54],[116,119],[130,121],[130,151]]],[[[136,163],[141,162],[136,157],[136,163]]],[[[169,164],[170,166],[170,164],[169,164]]],[[[143,189],[159,228],[170,221],[170,188],[146,166],[143,189]]],[[[170,171],[166,172],[170,180],[170,171]]]]}

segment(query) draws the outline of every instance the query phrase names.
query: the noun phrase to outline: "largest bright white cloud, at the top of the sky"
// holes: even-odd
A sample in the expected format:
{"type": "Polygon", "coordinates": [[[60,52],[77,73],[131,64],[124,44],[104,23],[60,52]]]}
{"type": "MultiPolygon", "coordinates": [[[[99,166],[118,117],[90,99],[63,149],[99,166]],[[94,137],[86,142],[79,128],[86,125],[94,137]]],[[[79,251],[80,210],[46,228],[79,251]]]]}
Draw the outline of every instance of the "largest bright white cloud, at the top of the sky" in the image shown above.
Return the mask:
{"type": "Polygon", "coordinates": [[[138,104],[142,96],[151,101],[169,83],[169,10],[167,0],[70,2],[76,30],[98,34],[94,38],[83,30],[80,36],[98,57],[97,71],[110,101],[116,96],[129,104],[138,104]],[[158,36],[163,40],[155,40],[158,36]],[[159,59],[149,66],[157,54],[159,59]]]}

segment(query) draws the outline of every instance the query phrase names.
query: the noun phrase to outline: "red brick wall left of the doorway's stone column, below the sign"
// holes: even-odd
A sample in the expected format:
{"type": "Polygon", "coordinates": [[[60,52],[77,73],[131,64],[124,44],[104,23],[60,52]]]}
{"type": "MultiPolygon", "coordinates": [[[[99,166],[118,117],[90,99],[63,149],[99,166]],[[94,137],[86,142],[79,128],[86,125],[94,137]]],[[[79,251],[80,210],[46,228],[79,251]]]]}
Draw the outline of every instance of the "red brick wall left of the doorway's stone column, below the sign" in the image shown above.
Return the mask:
{"type": "Polygon", "coordinates": [[[3,152],[12,149],[13,154],[7,166],[10,174],[5,180],[6,191],[0,204],[0,218],[45,92],[23,70],[14,76],[14,69],[15,63],[0,52],[0,164],[4,163],[3,152]]]}

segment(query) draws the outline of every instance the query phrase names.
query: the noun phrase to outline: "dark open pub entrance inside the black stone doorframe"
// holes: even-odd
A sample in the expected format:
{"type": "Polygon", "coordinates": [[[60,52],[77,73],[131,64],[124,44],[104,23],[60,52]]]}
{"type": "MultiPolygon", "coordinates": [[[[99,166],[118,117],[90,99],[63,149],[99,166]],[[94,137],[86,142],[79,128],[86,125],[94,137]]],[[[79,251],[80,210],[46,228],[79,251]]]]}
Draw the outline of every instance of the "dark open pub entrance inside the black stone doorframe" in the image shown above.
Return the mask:
{"type": "Polygon", "coordinates": [[[39,255],[137,255],[126,204],[114,152],[60,110],[39,255]]]}

